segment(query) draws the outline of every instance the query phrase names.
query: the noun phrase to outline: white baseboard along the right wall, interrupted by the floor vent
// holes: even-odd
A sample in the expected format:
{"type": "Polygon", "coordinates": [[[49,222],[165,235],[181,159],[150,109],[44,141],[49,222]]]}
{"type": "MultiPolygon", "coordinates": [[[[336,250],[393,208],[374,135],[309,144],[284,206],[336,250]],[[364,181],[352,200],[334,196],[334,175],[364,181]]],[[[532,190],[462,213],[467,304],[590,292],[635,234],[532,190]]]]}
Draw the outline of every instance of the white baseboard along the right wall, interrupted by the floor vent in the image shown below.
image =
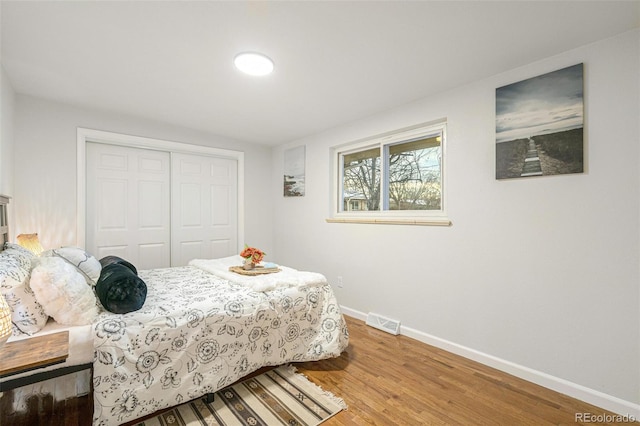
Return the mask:
{"type": "MultiPolygon", "coordinates": [[[[350,317],[362,321],[365,321],[367,318],[367,314],[365,314],[364,312],[360,312],[346,306],[341,306],[341,308],[342,312],[350,317]]],[[[543,386],[547,389],[560,392],[572,398],[579,399],[580,401],[595,405],[596,407],[603,408],[621,416],[640,420],[640,404],[625,401],[615,396],[611,396],[606,393],[579,385],[577,383],[573,383],[568,380],[543,373],[541,371],[537,371],[492,355],[485,354],[475,349],[471,349],[466,346],[462,346],[457,343],[432,336],[430,334],[415,330],[410,327],[400,326],[400,334],[403,336],[411,337],[412,339],[416,339],[428,345],[435,346],[439,349],[454,353],[456,355],[463,356],[497,370],[504,371],[505,373],[509,373],[513,376],[543,386]]],[[[590,414],[598,415],[601,413],[590,414]]]]}

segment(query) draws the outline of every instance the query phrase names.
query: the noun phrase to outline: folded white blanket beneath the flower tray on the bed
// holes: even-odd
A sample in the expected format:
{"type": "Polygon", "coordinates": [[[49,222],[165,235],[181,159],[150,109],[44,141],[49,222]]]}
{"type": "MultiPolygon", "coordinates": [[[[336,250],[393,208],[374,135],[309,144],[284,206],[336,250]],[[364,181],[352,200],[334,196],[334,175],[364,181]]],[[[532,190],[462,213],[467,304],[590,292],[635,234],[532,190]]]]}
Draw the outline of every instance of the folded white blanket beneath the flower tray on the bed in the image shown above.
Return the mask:
{"type": "Polygon", "coordinates": [[[221,259],[193,259],[189,265],[233,283],[250,287],[254,291],[269,291],[279,287],[317,286],[327,283],[327,279],[322,274],[298,271],[286,266],[278,266],[281,269],[280,272],[256,276],[240,275],[229,271],[229,267],[240,266],[242,261],[240,256],[230,256],[221,259]]]}

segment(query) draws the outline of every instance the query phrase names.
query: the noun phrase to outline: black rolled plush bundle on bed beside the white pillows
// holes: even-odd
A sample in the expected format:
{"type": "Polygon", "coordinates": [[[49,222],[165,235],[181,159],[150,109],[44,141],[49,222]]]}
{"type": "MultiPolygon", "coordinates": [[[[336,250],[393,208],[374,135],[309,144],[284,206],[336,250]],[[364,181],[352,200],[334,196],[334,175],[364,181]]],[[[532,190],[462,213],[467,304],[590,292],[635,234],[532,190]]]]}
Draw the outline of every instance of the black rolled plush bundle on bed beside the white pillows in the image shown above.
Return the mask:
{"type": "Polygon", "coordinates": [[[96,296],[109,312],[126,314],[142,308],[147,298],[147,285],[138,277],[133,265],[120,260],[105,262],[96,283],[96,296]]]}

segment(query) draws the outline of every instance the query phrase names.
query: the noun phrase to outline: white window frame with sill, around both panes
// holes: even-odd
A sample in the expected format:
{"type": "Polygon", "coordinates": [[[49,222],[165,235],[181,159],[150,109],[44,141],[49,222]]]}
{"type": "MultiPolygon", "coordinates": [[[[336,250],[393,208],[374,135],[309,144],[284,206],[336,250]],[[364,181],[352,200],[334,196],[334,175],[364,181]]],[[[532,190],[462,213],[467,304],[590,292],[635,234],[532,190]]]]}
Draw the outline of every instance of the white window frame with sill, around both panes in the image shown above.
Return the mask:
{"type": "Polygon", "coordinates": [[[446,120],[438,120],[431,123],[423,123],[417,126],[398,129],[387,132],[382,135],[373,136],[334,146],[331,152],[331,214],[327,220],[330,223],[368,223],[368,224],[402,224],[402,225],[431,225],[431,226],[449,226],[451,220],[447,216],[446,203],[447,185],[446,185],[446,146],[447,146],[447,122],[446,120]],[[363,151],[371,148],[379,148],[381,161],[381,196],[385,193],[385,187],[388,186],[387,174],[388,164],[385,156],[388,156],[389,146],[409,142],[434,134],[441,134],[440,153],[442,156],[440,163],[441,174],[441,208],[439,210],[382,210],[384,208],[384,198],[380,202],[381,210],[359,210],[344,211],[342,198],[342,182],[343,182],[343,159],[345,155],[350,153],[363,151]]]}

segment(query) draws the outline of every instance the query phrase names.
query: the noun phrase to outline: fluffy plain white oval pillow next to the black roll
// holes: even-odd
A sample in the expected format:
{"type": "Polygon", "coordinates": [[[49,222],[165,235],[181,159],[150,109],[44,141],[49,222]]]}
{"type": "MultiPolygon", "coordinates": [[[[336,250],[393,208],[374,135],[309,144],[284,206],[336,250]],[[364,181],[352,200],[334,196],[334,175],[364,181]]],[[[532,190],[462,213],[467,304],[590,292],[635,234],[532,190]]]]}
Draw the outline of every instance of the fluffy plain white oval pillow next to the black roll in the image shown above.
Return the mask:
{"type": "Polygon", "coordinates": [[[60,324],[91,324],[98,316],[93,289],[64,259],[41,258],[31,271],[31,288],[44,311],[60,324]]]}

